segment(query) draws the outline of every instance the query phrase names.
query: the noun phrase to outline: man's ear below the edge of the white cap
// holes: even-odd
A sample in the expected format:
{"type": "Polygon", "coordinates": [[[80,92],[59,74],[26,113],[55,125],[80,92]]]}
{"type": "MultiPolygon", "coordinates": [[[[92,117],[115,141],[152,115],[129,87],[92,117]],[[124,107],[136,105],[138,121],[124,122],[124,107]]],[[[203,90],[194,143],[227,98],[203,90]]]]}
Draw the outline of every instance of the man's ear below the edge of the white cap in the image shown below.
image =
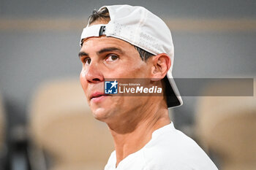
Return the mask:
{"type": "Polygon", "coordinates": [[[154,81],[162,80],[170,69],[170,64],[170,57],[165,53],[153,56],[151,79],[154,81]]]}

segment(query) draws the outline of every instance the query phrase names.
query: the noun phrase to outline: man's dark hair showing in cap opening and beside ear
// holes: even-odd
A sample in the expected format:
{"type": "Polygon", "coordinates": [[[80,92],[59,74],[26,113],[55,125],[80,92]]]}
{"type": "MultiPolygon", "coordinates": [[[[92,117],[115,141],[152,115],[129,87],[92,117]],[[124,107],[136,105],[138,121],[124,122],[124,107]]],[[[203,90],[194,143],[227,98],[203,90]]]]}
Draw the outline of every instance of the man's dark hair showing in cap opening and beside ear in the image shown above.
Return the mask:
{"type": "MultiPolygon", "coordinates": [[[[98,11],[94,9],[94,11],[92,12],[92,14],[89,17],[89,25],[91,23],[94,23],[94,21],[96,20],[110,20],[110,15],[108,12],[108,8],[103,7],[102,9],[99,9],[98,11]]],[[[140,54],[140,58],[143,61],[147,61],[148,58],[150,58],[151,56],[153,56],[154,54],[148,53],[146,50],[141,49],[140,47],[135,46],[135,49],[138,51],[138,53],[140,54]]]]}

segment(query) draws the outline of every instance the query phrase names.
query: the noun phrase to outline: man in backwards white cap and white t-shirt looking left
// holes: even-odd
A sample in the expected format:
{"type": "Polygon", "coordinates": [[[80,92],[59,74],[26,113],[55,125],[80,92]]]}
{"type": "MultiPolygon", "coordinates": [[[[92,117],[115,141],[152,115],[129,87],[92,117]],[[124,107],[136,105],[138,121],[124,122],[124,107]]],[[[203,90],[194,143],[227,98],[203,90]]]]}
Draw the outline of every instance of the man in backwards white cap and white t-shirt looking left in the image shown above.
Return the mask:
{"type": "Polygon", "coordinates": [[[115,143],[105,170],[217,169],[205,152],[174,128],[168,107],[182,100],[172,79],[169,28],[143,7],[114,5],[94,11],[80,40],[80,82],[97,120],[108,124],[115,143]],[[104,93],[107,78],[146,78],[162,85],[158,96],[104,93]],[[168,79],[167,79],[168,78],[168,79]]]}

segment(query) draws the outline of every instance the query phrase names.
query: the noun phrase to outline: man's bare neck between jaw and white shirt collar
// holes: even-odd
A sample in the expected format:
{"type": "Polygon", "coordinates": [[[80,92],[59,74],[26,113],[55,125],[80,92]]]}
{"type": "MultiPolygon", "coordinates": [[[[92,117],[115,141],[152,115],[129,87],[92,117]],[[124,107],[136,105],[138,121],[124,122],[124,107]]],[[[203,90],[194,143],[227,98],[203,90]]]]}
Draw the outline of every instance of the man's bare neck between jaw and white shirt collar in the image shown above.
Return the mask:
{"type": "MultiPolygon", "coordinates": [[[[137,114],[141,113],[132,112],[132,115],[137,114]]],[[[139,117],[136,121],[108,125],[115,142],[116,167],[128,155],[143,148],[151,140],[155,130],[170,123],[167,108],[148,107],[143,115],[144,117],[139,117]]]]}

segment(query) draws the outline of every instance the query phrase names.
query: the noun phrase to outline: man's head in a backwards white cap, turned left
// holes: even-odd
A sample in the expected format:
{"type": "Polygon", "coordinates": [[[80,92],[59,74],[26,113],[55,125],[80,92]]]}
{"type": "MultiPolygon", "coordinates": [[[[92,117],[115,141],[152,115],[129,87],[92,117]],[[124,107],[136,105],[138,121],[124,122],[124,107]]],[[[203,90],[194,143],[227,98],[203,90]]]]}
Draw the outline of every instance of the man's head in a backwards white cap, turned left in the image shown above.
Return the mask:
{"type": "MultiPolygon", "coordinates": [[[[89,18],[89,24],[84,29],[80,42],[80,59],[83,62],[80,81],[94,117],[99,120],[121,116],[122,111],[132,112],[139,109],[144,112],[147,107],[159,105],[167,108],[167,104],[171,103],[166,103],[165,96],[166,93],[173,93],[173,90],[170,89],[168,80],[164,80],[168,70],[171,73],[173,64],[170,31],[168,28],[161,30],[161,24],[165,23],[155,15],[154,18],[148,15],[153,14],[143,7],[124,5],[103,7],[94,11],[89,18]],[[129,15],[132,13],[137,19],[129,15]],[[150,23],[148,20],[158,20],[159,30],[151,28],[151,25],[157,22],[150,23]],[[150,33],[159,34],[154,31],[164,31],[166,36],[170,37],[161,37],[163,39],[159,40],[151,36],[150,33]],[[162,47],[161,44],[165,43],[166,39],[170,45],[162,47]],[[163,84],[169,86],[166,87],[165,94],[151,98],[104,96],[102,89],[105,78],[148,78],[154,80],[152,83],[159,85],[164,82],[163,84]]],[[[176,103],[173,104],[182,104],[182,101],[177,100],[175,93],[172,95],[174,96],[170,97],[176,98],[176,103]]]]}

